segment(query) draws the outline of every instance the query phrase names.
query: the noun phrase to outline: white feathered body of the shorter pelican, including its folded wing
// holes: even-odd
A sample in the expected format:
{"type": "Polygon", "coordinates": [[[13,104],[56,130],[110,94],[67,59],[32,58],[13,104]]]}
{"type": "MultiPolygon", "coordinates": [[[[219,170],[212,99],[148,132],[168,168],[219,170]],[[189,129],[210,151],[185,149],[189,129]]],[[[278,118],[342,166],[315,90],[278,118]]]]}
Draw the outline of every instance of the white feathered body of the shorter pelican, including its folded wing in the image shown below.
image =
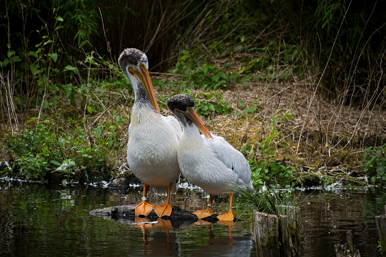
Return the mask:
{"type": "Polygon", "coordinates": [[[227,195],[229,186],[252,186],[251,168],[244,155],[224,138],[206,138],[198,129],[184,127],[178,146],[181,173],[211,195],[227,195]]]}

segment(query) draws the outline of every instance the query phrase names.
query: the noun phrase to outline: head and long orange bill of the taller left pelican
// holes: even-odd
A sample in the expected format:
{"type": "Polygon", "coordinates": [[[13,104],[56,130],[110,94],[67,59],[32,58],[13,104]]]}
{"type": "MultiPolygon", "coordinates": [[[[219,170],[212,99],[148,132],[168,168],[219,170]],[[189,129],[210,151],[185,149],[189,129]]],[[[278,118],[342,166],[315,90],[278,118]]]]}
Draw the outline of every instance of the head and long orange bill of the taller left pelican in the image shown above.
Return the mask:
{"type": "Polygon", "coordinates": [[[134,92],[138,92],[138,87],[143,86],[152,106],[159,113],[157,97],[149,76],[146,54],[135,48],[126,48],[119,55],[118,63],[123,73],[129,78],[134,92]]]}

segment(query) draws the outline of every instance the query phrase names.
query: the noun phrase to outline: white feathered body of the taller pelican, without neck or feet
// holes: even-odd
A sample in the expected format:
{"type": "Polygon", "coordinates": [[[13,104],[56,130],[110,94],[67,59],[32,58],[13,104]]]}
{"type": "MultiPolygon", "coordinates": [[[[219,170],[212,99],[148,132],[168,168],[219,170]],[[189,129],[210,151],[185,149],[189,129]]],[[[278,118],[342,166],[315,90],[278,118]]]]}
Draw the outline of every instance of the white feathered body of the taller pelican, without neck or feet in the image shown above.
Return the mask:
{"type": "Polygon", "coordinates": [[[137,178],[154,188],[157,195],[166,195],[166,186],[178,189],[180,169],[177,148],[181,127],[173,116],[162,116],[149,105],[132,109],[127,144],[127,163],[137,178]]]}

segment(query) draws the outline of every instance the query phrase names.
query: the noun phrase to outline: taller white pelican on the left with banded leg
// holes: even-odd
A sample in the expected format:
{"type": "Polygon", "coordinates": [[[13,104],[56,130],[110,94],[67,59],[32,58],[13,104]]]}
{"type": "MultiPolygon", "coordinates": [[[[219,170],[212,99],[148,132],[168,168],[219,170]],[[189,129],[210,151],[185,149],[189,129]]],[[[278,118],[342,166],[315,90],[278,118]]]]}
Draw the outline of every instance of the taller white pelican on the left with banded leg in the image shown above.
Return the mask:
{"type": "Polygon", "coordinates": [[[177,147],[181,126],[173,116],[159,113],[157,98],[149,76],[147,56],[138,49],[125,49],[119,56],[119,66],[129,78],[135,101],[129,125],[127,163],[137,178],[144,183],[142,202],[135,207],[135,215],[149,215],[151,210],[159,217],[171,214],[170,193],[178,189],[179,170],[177,147]],[[166,203],[154,207],[147,198],[149,186],[156,195],[167,195],[166,203]]]}

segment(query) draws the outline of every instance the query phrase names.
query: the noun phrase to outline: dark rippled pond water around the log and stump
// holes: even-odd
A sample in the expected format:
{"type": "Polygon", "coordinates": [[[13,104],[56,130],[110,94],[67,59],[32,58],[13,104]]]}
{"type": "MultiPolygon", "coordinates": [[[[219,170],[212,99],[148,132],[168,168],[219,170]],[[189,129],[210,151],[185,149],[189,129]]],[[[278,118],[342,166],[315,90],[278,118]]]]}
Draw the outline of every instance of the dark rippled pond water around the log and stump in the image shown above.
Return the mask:
{"type": "MultiPolygon", "coordinates": [[[[138,191],[141,187],[112,191],[79,184],[0,181],[0,256],[256,256],[248,217],[231,226],[161,219],[144,225],[88,213],[137,203],[138,191]]],[[[308,190],[295,195],[306,198],[301,207],[302,256],[336,256],[334,244],[343,244],[349,229],[362,257],[380,256],[374,216],[383,214],[385,192],[308,190]]],[[[156,204],[165,200],[152,193],[149,197],[156,204]]],[[[199,190],[180,188],[171,203],[195,210],[206,200],[199,190]]],[[[227,206],[227,199],[216,199],[214,212],[225,213],[227,206]]]]}

